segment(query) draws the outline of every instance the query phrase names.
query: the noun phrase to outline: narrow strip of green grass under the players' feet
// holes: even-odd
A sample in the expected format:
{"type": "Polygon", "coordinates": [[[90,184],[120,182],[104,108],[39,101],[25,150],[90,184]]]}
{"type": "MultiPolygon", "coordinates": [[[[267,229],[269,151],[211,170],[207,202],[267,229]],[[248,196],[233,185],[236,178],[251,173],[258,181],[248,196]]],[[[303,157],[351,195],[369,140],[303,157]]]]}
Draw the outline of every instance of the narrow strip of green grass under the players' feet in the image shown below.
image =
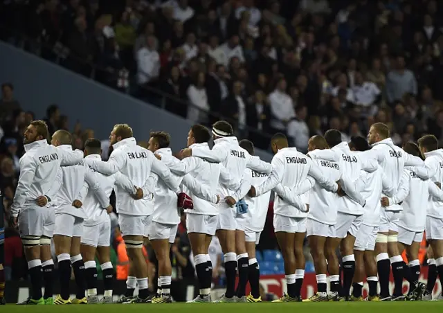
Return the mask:
{"type": "Polygon", "coordinates": [[[8,313],[121,313],[122,311],[131,313],[146,313],[150,310],[154,312],[167,313],[179,311],[183,313],[275,313],[304,310],[304,313],[430,313],[443,312],[443,301],[437,302],[383,302],[383,303],[172,303],[172,304],[145,304],[145,305],[7,305],[0,306],[0,312],[8,313]]]}

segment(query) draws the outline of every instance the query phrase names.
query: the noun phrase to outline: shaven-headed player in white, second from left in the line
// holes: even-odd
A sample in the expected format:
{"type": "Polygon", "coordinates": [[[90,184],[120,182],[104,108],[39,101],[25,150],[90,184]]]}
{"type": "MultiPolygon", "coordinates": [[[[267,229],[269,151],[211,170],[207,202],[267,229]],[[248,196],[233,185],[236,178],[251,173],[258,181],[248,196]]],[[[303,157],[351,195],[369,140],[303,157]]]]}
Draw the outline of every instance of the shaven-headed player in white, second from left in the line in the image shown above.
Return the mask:
{"type": "MultiPolygon", "coordinates": [[[[57,130],[51,140],[52,145],[61,150],[72,151],[72,135],[66,130],[57,130]]],[[[62,168],[62,181],[57,193],[55,206],[54,245],[57,255],[60,280],[60,294],[55,298],[57,305],[85,304],[86,281],[84,280],[84,262],[80,253],[80,241],[83,233],[83,220],[86,217],[82,202],[87,193],[82,192],[84,184],[94,191],[102,209],[112,210],[103,186],[84,163],[62,168]],[[69,280],[71,265],[77,285],[76,298],[69,298],[69,280]]],[[[132,184],[129,184],[131,188],[132,184]]]]}

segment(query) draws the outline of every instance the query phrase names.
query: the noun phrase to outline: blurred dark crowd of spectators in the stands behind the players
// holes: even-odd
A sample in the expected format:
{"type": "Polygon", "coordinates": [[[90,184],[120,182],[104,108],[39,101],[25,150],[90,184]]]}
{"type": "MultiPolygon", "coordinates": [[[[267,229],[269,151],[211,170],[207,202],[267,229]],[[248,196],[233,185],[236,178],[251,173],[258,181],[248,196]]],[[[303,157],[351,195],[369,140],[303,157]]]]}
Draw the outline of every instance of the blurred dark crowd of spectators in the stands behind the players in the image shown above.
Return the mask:
{"type": "MultiPolygon", "coordinates": [[[[436,0],[5,0],[0,39],[192,122],[229,120],[263,149],[274,132],[306,151],[325,129],[347,140],[374,122],[401,145],[443,140],[442,10],[436,0]]],[[[0,100],[6,208],[35,118],[13,90],[4,82],[0,100]]],[[[48,107],[51,132],[68,128],[62,114],[48,107]]],[[[78,148],[93,137],[80,123],[68,129],[78,148]]],[[[260,249],[276,247],[268,220],[260,249]]]]}

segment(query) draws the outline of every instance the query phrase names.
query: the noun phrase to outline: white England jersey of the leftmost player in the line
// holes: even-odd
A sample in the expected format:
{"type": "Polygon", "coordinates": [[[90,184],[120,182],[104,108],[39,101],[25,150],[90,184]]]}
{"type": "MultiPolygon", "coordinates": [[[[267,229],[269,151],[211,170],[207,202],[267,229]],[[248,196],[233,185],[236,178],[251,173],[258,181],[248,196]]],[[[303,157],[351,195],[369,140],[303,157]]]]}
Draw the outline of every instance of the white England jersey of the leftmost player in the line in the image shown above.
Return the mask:
{"type": "Polygon", "coordinates": [[[27,143],[24,148],[26,153],[20,159],[20,177],[11,206],[14,217],[20,210],[37,206],[35,199],[38,197],[48,195],[60,166],[73,166],[83,159],[82,151],[62,150],[48,145],[46,139],[27,143]]]}

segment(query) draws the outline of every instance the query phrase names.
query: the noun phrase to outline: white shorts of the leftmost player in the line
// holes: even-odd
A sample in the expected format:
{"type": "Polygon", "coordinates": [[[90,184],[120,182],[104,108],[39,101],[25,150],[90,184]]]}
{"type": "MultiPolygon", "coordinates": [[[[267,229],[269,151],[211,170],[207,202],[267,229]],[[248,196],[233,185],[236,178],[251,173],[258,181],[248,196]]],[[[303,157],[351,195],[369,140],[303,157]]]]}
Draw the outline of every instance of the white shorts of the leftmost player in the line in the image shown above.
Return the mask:
{"type": "Polygon", "coordinates": [[[19,214],[20,236],[52,237],[54,233],[55,211],[53,208],[36,206],[26,208],[19,214]]]}

